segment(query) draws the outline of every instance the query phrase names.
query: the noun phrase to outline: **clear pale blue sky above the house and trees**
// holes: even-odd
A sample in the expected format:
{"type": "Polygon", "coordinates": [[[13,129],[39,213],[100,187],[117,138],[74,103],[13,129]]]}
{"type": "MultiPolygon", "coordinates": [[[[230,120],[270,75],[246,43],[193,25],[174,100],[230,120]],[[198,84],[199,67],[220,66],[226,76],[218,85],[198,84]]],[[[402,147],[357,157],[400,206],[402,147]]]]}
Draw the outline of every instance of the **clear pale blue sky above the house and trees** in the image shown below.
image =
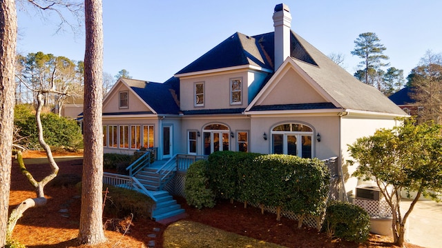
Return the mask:
{"type": "MultiPolygon", "coordinates": [[[[273,32],[278,3],[289,6],[294,32],[326,55],[343,54],[352,74],[361,59],[350,52],[363,32],[378,35],[391,66],[405,77],[425,51],[442,52],[439,0],[104,0],[104,72],[126,69],[134,79],[164,82],[235,32],[273,32]]],[[[43,20],[18,10],[18,23],[18,52],[84,59],[84,31],[55,33],[57,15],[43,20]]]]}

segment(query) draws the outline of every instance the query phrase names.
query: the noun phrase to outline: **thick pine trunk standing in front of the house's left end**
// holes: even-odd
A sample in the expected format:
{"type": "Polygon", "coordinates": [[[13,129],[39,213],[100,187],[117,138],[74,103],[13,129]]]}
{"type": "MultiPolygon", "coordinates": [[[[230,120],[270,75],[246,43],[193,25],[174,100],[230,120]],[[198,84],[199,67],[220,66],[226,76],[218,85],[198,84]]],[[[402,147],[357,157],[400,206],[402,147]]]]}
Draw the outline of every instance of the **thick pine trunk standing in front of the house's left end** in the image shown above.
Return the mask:
{"type": "Polygon", "coordinates": [[[84,56],[84,164],[78,242],[106,241],[103,230],[102,1],[84,1],[86,54],[84,56]]]}

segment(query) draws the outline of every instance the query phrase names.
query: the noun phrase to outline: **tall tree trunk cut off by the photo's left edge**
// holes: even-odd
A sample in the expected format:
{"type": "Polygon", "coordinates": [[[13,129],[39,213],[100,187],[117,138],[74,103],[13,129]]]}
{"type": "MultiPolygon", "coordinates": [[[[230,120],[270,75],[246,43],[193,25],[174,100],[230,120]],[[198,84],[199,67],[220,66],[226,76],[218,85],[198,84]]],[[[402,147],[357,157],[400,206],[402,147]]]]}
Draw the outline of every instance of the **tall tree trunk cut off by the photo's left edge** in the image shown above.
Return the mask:
{"type": "Polygon", "coordinates": [[[0,247],[6,245],[15,103],[15,1],[0,2],[0,247]]]}

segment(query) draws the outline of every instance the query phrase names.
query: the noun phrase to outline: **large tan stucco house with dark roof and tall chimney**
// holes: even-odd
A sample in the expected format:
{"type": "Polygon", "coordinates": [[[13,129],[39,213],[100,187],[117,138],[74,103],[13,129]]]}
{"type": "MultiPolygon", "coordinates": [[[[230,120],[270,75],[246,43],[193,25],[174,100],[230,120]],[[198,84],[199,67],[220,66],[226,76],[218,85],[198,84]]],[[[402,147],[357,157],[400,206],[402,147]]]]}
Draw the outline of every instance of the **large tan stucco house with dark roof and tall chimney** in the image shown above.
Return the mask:
{"type": "Polygon", "coordinates": [[[119,79],[103,103],[104,152],[337,156],[341,197],[353,194],[347,144],[406,114],[292,31],[288,6],[276,6],[273,23],[266,34],[232,34],[164,83],[119,79]]]}

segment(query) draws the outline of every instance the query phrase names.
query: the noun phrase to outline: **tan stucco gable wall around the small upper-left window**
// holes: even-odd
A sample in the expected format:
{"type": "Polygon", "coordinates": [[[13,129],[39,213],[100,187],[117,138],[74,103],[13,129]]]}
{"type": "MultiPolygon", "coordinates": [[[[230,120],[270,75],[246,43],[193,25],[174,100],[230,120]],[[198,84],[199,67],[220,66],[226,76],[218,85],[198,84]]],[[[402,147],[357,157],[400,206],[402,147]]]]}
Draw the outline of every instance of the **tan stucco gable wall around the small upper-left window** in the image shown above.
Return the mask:
{"type": "Polygon", "coordinates": [[[131,90],[126,87],[123,83],[119,83],[117,87],[111,92],[111,95],[106,97],[103,103],[104,113],[114,113],[114,112],[144,112],[150,111],[146,104],[142,102],[131,90]],[[119,92],[128,91],[128,108],[119,108],[119,92]]]}

